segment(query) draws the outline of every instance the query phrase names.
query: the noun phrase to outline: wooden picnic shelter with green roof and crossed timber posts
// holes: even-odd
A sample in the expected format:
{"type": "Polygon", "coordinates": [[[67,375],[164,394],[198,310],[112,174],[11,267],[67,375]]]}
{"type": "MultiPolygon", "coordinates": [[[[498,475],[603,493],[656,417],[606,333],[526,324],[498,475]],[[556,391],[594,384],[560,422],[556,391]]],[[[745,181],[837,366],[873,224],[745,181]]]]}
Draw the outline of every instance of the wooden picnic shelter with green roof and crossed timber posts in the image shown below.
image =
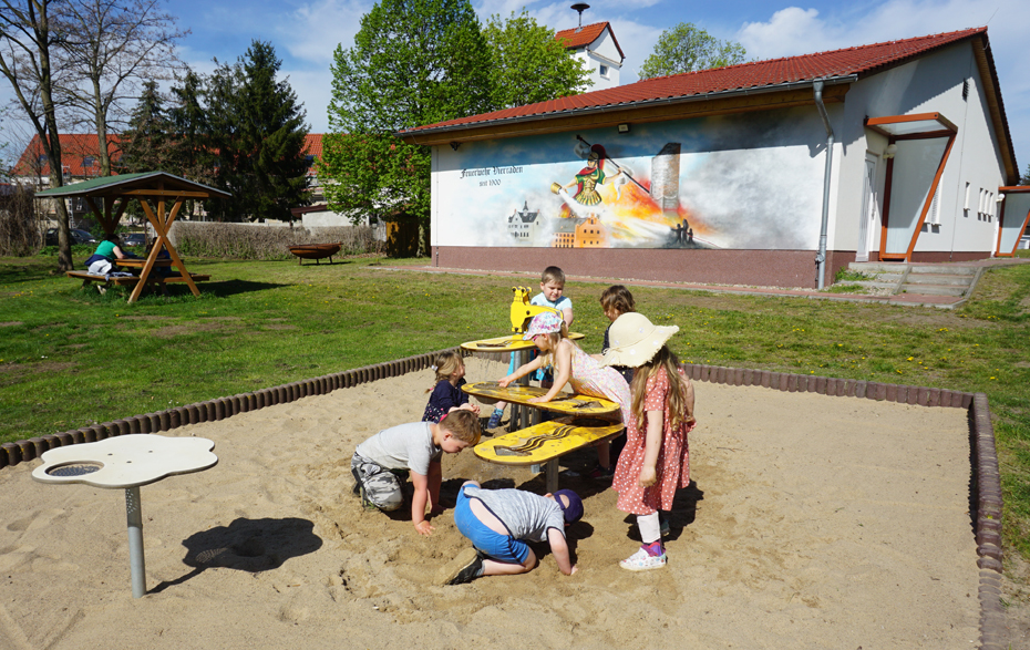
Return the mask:
{"type": "Polygon", "coordinates": [[[151,252],[140,271],[130,302],[135,302],[146,285],[154,262],[162,247],[168,251],[172,266],[182,274],[183,281],[189,287],[194,296],[199,297],[200,291],[193,281],[186,265],[168,240],[168,231],[178,216],[183,202],[186,199],[227,198],[229,194],[207,185],[194,183],[165,172],[141,172],[137,174],[121,174],[104,176],[84,183],[75,183],[63,187],[54,187],[37,193],[37,198],[73,198],[85,199],[90,210],[97,218],[107,236],[114,235],[125,208],[131,199],[137,199],[143,207],[147,221],[154,228],[156,239],[151,252]],[[171,204],[171,208],[168,207],[171,204]]]}

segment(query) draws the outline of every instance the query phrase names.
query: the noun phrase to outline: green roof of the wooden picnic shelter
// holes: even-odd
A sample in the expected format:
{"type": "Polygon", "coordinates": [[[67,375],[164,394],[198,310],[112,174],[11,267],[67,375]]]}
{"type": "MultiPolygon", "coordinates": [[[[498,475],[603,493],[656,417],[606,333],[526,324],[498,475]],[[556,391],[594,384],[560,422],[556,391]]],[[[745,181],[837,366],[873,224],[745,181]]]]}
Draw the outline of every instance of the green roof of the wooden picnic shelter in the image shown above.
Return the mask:
{"type": "Polygon", "coordinates": [[[228,192],[187,180],[167,172],[140,172],[102,176],[82,183],[44,189],[40,198],[71,197],[128,197],[128,198],[228,198],[228,192]]]}

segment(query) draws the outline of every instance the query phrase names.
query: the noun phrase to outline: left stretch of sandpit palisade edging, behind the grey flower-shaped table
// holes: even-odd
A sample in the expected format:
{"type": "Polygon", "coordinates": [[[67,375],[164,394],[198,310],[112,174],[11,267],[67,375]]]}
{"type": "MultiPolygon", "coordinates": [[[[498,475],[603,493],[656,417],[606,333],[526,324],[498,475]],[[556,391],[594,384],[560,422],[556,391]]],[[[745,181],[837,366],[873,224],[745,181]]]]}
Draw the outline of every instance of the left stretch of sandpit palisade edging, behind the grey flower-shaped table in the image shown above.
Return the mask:
{"type": "Polygon", "coordinates": [[[157,413],[133,415],[116,422],[104,422],[74,431],[65,431],[52,435],[43,435],[29,440],[20,440],[0,444],[0,470],[12,467],[19,463],[32,461],[43,455],[43,452],[84,442],[96,442],[115,435],[131,435],[136,433],[158,433],[202,422],[217,422],[231,417],[238,413],[256,411],[274,404],[285,404],[302,398],[323,395],[339,389],[349,389],[358,384],[400,376],[409,372],[418,372],[433,365],[436,357],[443,352],[467,353],[460,348],[445,348],[415,354],[385,363],[375,363],[337,372],[312,379],[290,382],[268,389],[260,389],[250,393],[243,393],[229,398],[215,398],[206,402],[175,406],[157,413]]]}

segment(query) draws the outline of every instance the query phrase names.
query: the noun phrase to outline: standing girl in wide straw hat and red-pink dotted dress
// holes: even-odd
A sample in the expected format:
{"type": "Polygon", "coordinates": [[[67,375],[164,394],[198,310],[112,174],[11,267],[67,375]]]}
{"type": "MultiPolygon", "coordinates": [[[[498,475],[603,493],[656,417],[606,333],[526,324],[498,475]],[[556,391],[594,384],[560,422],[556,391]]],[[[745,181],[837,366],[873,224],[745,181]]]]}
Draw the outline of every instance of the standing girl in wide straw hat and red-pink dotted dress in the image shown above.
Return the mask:
{"type": "Polygon", "coordinates": [[[626,447],[615,470],[616,504],[637,515],[640,540],[634,555],[619,563],[642,571],[666,566],[658,510],[672,508],[680,487],[690,485],[687,434],[694,427],[693,386],[666,341],[676,326],[655,326],[640,313],[624,313],[611,324],[605,363],[636,368],[632,415],[626,421],[626,447]]]}

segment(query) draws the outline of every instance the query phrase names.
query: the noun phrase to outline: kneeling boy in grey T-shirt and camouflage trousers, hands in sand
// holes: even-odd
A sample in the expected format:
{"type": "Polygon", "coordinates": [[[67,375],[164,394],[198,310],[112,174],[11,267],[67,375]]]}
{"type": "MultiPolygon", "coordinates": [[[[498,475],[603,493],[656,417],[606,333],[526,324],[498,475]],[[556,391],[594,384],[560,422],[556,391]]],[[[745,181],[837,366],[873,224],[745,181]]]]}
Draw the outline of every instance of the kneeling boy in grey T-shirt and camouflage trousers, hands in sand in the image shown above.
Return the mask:
{"type": "Polygon", "coordinates": [[[395,510],[404,503],[402,482],[411,471],[414,494],[411,497],[411,523],[422,535],[433,527],[425,520],[430,513],[443,512],[440,505],[441,454],[457,454],[480,442],[480,419],[465,410],[451,412],[439,424],[413,422],[384,429],[354,450],[350,471],[365,507],[395,510]]]}

